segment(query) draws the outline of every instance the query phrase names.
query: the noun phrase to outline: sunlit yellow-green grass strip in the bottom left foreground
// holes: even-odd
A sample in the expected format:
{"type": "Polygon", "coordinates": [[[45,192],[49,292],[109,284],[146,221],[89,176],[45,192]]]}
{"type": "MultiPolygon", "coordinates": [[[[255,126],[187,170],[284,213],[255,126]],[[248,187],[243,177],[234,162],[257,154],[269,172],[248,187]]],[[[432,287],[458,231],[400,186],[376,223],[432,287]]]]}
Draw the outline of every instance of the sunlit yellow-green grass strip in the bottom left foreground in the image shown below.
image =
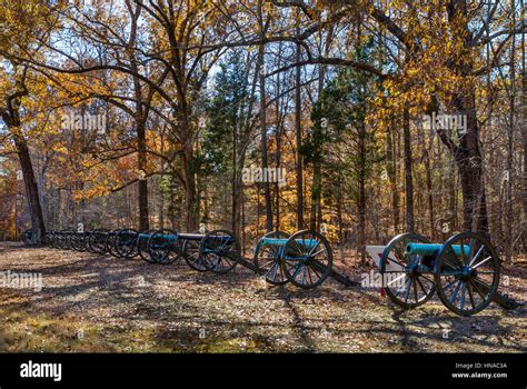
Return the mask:
{"type": "Polygon", "coordinates": [[[0,310],[0,352],[261,352],[266,339],[198,329],[176,331],[102,326],[72,315],[0,310]]]}

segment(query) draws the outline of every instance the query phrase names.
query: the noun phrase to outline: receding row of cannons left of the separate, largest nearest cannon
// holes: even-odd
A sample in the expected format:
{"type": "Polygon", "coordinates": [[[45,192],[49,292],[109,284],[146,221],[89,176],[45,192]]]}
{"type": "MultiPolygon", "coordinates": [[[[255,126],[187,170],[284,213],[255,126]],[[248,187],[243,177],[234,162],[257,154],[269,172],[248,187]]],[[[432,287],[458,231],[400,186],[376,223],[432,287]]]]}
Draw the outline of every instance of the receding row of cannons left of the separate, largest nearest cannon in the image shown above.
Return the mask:
{"type": "Polygon", "coordinates": [[[272,285],[292,285],[311,289],[328,276],[346,283],[346,278],[332,270],[332,252],[328,240],[317,231],[302,230],[289,236],[274,231],[257,243],[251,260],[242,258],[238,239],[227,230],[181,233],[170,229],[133,229],[92,231],[51,231],[46,235],[48,246],[116,258],[140,257],[150,263],[170,265],[185,260],[197,271],[225,275],[237,265],[265,277],[272,285]]]}

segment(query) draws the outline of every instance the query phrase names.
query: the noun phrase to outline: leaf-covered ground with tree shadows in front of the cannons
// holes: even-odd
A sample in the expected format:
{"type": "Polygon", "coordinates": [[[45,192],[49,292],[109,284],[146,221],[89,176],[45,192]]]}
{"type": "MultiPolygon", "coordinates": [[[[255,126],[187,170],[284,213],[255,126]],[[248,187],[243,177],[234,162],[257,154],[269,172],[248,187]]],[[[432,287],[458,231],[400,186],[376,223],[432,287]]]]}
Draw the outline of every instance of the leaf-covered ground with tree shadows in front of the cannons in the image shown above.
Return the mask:
{"type": "MultiPolygon", "coordinates": [[[[360,281],[360,268],[337,263],[360,281]]],[[[0,271],[40,272],[43,289],[0,289],[0,351],[525,352],[527,309],[490,305],[463,318],[436,298],[411,311],[378,290],[332,280],[302,291],[250,270],[216,276],[185,262],[149,265],[0,242],[0,271]]],[[[527,262],[506,267],[525,301],[527,262]]]]}

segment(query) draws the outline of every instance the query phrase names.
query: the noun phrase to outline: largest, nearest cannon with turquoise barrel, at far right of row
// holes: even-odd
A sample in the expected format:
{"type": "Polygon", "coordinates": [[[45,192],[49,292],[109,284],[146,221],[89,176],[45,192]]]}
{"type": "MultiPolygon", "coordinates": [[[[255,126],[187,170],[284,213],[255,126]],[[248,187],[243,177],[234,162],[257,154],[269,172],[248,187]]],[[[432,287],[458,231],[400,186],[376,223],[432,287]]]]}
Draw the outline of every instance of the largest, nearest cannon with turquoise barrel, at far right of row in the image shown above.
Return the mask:
{"type": "Polygon", "coordinates": [[[460,316],[476,315],[490,302],[514,309],[517,302],[497,289],[500,259],[481,235],[461,232],[445,243],[431,243],[418,233],[395,237],[379,261],[382,290],[397,306],[411,309],[440,301],[460,316]]]}

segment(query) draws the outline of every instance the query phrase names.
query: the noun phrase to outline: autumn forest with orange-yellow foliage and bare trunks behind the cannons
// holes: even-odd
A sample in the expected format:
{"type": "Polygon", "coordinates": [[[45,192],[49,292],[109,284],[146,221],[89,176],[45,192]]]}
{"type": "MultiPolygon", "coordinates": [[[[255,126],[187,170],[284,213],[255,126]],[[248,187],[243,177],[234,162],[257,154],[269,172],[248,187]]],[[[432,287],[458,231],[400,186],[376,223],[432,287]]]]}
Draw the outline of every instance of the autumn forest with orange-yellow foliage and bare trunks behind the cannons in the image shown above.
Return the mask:
{"type": "Polygon", "coordinates": [[[0,238],[527,249],[524,1],[3,0],[0,238]]]}

